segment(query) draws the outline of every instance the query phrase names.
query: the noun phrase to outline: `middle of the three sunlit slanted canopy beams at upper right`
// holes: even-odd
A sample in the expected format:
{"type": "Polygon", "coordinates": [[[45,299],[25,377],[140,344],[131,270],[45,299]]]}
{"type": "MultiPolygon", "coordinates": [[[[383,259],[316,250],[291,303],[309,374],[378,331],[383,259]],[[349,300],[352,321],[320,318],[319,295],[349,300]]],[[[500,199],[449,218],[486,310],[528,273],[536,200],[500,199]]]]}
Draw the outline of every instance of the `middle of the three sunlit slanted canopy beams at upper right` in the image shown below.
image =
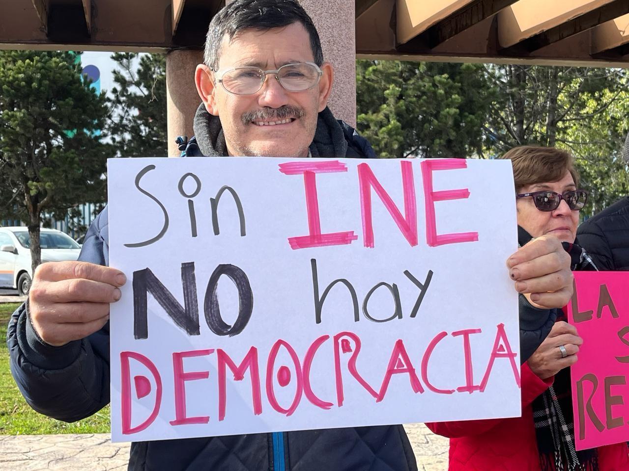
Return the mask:
{"type": "Polygon", "coordinates": [[[534,51],[616,18],[627,0],[520,0],[498,13],[501,48],[534,51]]]}

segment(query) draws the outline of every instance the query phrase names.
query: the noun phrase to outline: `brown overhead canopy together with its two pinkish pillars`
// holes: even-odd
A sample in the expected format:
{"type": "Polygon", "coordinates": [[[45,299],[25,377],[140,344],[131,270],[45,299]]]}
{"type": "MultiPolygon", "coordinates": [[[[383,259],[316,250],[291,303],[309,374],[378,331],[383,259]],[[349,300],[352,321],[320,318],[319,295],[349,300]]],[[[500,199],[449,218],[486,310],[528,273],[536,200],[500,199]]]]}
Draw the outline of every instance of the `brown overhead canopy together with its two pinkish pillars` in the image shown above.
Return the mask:
{"type": "MultiPolygon", "coordinates": [[[[169,155],[191,136],[194,69],[232,0],[0,0],[0,49],[168,53],[169,155]]],[[[355,58],[626,67],[629,0],[300,0],[335,67],[329,106],[356,122],[355,58]]]]}

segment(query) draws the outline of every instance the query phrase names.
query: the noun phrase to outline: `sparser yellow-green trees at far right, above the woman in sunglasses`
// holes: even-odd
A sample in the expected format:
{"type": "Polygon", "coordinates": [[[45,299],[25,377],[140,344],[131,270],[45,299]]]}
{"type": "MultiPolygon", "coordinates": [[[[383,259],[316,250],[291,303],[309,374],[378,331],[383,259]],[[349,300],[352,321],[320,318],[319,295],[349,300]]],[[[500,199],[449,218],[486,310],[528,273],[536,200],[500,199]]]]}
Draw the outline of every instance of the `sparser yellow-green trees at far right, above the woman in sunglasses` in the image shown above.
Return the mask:
{"type": "Polygon", "coordinates": [[[590,194],[582,215],[628,194],[620,156],[629,116],[625,69],[487,65],[486,71],[499,89],[486,123],[488,153],[525,144],[571,151],[590,194]]]}

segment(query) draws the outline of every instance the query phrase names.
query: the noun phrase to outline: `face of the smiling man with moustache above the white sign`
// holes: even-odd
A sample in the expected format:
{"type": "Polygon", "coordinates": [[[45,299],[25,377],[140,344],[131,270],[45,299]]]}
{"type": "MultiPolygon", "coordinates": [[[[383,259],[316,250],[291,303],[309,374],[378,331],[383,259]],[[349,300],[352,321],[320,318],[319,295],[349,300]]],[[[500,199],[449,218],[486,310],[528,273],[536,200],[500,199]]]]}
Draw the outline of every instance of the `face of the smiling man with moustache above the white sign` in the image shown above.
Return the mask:
{"type": "MultiPolygon", "coordinates": [[[[221,119],[230,155],[305,157],[313,141],[318,112],[326,107],[331,87],[331,66],[324,64],[320,82],[302,92],[289,92],[267,75],[262,89],[252,95],[234,95],[216,82],[235,67],[276,70],[288,63],[314,62],[308,32],[301,23],[272,30],[244,30],[232,41],[223,40],[218,72],[207,69],[206,109],[221,119]],[[279,111],[281,110],[281,111],[279,111]],[[278,117],[278,114],[280,117],[278,117]],[[284,119],[282,120],[282,117],[284,119]],[[286,117],[288,119],[286,119],[286,117]],[[284,124],[279,124],[283,121],[284,124]],[[289,122],[285,122],[289,121],[289,122]],[[277,123],[277,124],[269,124],[277,123]]],[[[199,87],[203,98],[203,77],[199,87]]]]}

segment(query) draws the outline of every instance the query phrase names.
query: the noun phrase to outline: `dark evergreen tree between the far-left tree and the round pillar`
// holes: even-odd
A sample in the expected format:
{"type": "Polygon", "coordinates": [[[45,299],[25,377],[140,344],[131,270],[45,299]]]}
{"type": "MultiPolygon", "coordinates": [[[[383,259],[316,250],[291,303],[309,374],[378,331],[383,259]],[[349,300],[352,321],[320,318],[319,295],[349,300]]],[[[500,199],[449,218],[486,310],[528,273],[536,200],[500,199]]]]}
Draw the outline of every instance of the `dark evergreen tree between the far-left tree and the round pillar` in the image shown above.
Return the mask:
{"type": "Polygon", "coordinates": [[[114,70],[116,87],[111,90],[113,113],[109,131],[118,154],[166,156],[165,55],[114,53],[111,58],[118,69],[114,70]]]}

